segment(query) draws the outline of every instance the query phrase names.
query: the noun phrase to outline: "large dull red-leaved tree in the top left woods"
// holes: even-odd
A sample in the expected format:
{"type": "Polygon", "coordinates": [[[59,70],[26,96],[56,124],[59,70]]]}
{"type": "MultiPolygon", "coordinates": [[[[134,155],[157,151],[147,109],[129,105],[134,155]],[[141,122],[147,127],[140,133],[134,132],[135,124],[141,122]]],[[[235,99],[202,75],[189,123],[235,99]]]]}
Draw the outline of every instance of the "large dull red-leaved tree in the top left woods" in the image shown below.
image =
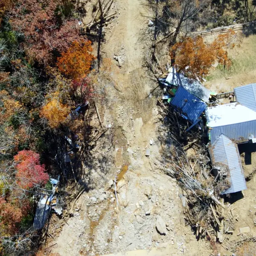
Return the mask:
{"type": "Polygon", "coordinates": [[[25,35],[24,48],[29,60],[47,65],[51,63],[54,52],[64,52],[73,41],[82,40],[77,20],[60,18],[64,2],[17,0],[11,23],[15,30],[25,35]]]}

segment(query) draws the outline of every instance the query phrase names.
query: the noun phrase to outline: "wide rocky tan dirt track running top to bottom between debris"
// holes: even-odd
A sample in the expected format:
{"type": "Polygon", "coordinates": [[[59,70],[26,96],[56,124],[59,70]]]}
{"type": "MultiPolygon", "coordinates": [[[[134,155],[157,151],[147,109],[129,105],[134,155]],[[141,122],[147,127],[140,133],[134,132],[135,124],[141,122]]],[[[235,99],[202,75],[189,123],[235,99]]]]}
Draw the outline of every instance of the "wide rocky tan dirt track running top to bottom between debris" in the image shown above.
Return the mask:
{"type": "Polygon", "coordinates": [[[140,250],[136,255],[147,255],[146,250],[153,250],[149,255],[191,256],[202,250],[202,256],[209,255],[185,227],[180,191],[175,180],[163,174],[160,162],[158,127],[163,116],[156,96],[150,95],[157,84],[144,64],[153,32],[148,17],[153,13],[145,0],[116,0],[113,10],[118,17],[105,27],[101,48],[102,58],[112,61],[113,83],[106,86],[100,106],[104,125],[111,128],[93,151],[99,156],[90,166],[94,189],[79,199],[52,253],[77,256],[140,250]],[[114,55],[120,56],[121,68],[114,55]],[[150,156],[145,156],[146,149],[150,156]],[[157,232],[157,216],[163,219],[166,235],[157,232]]]}

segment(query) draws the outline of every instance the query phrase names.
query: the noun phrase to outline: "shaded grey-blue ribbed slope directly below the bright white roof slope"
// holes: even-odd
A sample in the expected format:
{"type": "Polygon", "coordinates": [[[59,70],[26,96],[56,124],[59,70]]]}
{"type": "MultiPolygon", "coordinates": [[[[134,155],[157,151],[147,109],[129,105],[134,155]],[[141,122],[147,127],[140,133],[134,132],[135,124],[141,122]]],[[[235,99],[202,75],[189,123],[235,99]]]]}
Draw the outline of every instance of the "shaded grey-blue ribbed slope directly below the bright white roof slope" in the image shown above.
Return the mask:
{"type": "Polygon", "coordinates": [[[250,134],[256,136],[256,120],[242,122],[233,125],[224,125],[213,127],[210,130],[211,133],[211,143],[214,143],[215,140],[221,135],[224,134],[232,140],[237,142],[243,142],[248,140],[250,134]]]}

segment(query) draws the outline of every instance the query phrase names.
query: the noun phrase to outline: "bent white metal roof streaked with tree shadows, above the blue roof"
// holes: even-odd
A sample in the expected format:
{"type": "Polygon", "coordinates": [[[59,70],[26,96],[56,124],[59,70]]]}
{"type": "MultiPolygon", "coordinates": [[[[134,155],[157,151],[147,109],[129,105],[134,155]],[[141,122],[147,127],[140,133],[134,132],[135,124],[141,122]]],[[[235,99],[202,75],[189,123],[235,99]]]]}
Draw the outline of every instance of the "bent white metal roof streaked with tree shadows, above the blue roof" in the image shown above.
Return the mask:
{"type": "Polygon", "coordinates": [[[177,73],[175,67],[172,67],[172,71],[166,78],[169,84],[175,86],[181,86],[189,93],[203,100],[204,102],[209,102],[210,90],[205,88],[200,81],[195,79],[188,79],[181,73],[177,73]]]}

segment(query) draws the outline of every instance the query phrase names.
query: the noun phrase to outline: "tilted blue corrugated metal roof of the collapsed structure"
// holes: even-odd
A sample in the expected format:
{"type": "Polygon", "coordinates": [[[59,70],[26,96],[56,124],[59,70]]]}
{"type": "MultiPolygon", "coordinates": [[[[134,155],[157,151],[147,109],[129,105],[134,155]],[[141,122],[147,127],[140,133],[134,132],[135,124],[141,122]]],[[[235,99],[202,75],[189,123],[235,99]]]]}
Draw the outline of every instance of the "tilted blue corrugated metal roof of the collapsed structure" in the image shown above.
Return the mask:
{"type": "Polygon", "coordinates": [[[194,123],[198,120],[206,109],[205,102],[202,102],[196,96],[186,91],[183,87],[178,87],[174,98],[170,104],[176,109],[182,111],[182,113],[194,123]]]}

